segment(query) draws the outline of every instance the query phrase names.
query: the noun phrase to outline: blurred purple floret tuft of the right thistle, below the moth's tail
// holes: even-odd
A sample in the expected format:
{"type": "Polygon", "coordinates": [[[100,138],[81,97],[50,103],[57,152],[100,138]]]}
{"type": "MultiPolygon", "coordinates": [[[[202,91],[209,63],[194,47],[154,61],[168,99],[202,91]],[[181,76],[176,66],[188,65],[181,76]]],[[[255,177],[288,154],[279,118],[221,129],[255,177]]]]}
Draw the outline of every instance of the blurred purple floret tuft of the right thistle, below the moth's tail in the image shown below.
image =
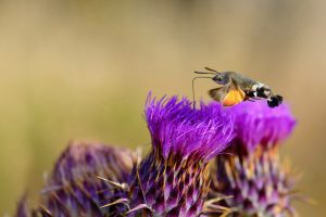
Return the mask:
{"type": "Polygon", "coordinates": [[[242,102],[230,108],[235,115],[236,140],[249,151],[285,140],[296,126],[289,107],[268,107],[266,101],[242,102]]]}

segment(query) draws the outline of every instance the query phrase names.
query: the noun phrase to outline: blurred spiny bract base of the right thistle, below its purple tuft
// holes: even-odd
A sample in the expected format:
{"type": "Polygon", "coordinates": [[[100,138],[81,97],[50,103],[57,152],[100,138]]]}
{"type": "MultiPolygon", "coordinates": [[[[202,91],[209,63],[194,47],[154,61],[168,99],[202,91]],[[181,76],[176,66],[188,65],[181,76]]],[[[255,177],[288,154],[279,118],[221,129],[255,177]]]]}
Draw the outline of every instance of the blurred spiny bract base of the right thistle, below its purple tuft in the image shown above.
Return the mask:
{"type": "Polygon", "coordinates": [[[294,215],[291,202],[297,178],[277,151],[258,148],[246,156],[220,156],[216,164],[211,197],[224,197],[218,205],[229,207],[233,216],[294,215]]]}

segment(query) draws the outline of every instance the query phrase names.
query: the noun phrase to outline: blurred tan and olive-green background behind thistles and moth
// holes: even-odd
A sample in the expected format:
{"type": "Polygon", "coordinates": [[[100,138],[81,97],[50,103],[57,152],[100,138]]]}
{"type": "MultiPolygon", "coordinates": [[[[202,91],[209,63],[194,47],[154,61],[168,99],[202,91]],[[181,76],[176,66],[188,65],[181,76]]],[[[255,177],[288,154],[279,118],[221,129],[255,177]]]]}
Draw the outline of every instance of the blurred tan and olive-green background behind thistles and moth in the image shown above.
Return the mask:
{"type": "Polygon", "coordinates": [[[283,153],[318,202],[297,207],[325,216],[325,58],[326,1],[1,0],[0,216],[36,197],[71,139],[147,146],[148,91],[191,97],[203,66],[285,97],[299,125],[283,153]]]}

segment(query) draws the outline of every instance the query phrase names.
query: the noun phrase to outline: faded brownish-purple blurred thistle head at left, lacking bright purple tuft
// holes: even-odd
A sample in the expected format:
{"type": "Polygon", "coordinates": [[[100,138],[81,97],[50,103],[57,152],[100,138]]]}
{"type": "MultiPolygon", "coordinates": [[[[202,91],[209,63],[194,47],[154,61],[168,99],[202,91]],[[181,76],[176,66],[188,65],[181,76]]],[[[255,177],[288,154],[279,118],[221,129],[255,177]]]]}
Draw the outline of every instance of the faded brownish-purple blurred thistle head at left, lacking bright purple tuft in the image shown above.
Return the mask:
{"type": "Polygon", "coordinates": [[[127,182],[131,168],[133,157],[128,150],[98,143],[72,143],[58,159],[41,192],[39,207],[29,212],[23,199],[16,216],[101,217],[104,213],[115,214],[114,206],[101,209],[101,203],[121,196],[112,183],[127,182]]]}

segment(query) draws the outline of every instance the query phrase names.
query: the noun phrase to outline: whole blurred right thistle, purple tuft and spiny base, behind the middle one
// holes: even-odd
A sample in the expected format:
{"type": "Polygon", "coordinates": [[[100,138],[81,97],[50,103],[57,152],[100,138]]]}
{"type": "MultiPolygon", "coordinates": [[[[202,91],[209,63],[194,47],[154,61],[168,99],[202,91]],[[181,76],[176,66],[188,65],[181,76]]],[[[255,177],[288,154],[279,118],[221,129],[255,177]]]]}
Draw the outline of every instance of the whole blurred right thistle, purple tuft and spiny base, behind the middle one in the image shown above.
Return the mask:
{"type": "Polygon", "coordinates": [[[288,106],[269,108],[265,101],[256,101],[229,111],[235,115],[236,137],[228,150],[231,155],[216,157],[213,190],[226,196],[220,205],[231,207],[235,216],[293,214],[294,178],[280,163],[277,149],[296,125],[288,106]]]}

